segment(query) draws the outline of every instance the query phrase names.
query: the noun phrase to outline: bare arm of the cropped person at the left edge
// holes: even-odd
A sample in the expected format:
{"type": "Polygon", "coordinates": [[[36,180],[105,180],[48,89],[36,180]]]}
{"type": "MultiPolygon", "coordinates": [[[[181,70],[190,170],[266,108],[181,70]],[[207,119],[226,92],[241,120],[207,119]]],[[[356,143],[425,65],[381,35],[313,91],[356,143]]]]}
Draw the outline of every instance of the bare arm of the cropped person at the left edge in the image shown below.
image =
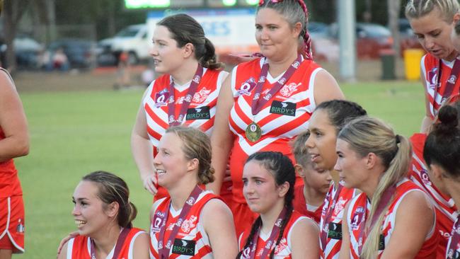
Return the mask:
{"type": "Polygon", "coordinates": [[[21,99],[13,81],[0,71],[0,163],[29,153],[29,133],[21,99]]]}

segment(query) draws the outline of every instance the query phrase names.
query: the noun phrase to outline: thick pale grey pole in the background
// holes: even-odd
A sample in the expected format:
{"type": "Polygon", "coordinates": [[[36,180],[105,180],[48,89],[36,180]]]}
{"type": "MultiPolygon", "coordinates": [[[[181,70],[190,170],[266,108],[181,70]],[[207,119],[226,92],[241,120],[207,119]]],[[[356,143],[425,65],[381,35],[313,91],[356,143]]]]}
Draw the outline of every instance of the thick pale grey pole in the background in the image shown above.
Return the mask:
{"type": "Polygon", "coordinates": [[[343,81],[356,81],[355,0],[338,0],[337,6],[340,42],[340,79],[343,81]]]}

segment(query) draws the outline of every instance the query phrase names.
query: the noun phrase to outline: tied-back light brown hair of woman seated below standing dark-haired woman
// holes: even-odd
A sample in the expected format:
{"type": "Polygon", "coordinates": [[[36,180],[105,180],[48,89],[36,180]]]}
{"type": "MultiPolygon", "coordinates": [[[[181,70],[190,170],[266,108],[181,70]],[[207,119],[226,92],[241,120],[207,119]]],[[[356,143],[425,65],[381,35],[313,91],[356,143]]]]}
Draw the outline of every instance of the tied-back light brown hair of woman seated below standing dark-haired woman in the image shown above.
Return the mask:
{"type": "Polygon", "coordinates": [[[211,141],[207,134],[192,127],[170,127],[166,133],[174,133],[183,142],[183,152],[187,159],[198,159],[198,183],[214,182],[214,168],[211,166],[211,141]]]}

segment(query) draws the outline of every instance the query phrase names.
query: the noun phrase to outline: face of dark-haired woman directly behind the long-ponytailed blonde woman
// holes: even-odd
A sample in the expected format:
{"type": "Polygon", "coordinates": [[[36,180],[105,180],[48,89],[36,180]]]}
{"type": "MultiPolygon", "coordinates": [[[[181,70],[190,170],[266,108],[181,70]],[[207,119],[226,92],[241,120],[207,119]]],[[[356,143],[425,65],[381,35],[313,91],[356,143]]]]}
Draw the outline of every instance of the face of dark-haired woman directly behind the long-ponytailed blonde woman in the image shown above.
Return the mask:
{"type": "Polygon", "coordinates": [[[309,132],[310,136],[305,144],[311,155],[311,162],[316,164],[316,168],[332,170],[337,161],[337,129],[330,123],[326,110],[315,110],[309,120],[309,132]]]}

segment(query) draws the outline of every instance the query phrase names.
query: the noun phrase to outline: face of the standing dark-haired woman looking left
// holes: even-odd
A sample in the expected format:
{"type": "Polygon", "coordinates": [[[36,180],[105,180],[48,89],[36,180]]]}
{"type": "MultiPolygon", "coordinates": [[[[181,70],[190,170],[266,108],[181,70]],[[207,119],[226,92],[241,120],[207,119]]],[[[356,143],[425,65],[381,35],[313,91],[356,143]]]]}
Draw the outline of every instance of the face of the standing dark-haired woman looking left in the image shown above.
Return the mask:
{"type": "Polygon", "coordinates": [[[184,61],[184,47],[178,47],[178,42],[171,38],[171,32],[163,25],[156,25],[154,46],[151,56],[154,57],[155,71],[161,74],[172,74],[184,61]]]}

